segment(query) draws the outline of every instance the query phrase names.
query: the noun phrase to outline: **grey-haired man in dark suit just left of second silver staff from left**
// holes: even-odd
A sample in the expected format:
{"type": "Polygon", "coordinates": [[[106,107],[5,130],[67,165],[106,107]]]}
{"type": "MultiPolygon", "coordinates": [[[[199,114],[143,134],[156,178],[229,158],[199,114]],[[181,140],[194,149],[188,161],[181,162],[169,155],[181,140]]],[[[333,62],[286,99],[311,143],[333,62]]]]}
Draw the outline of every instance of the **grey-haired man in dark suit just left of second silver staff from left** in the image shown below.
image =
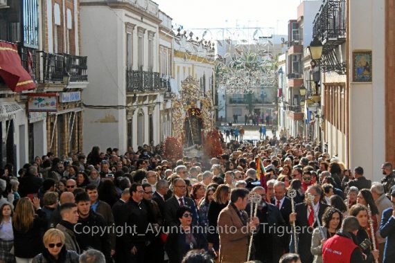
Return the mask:
{"type": "Polygon", "coordinates": [[[292,203],[291,200],[286,197],[286,184],[277,181],[274,183],[274,198],[272,198],[271,203],[274,206],[279,208],[283,220],[285,221],[284,224],[287,228],[286,233],[284,233],[283,237],[281,238],[283,250],[287,253],[290,251],[289,244],[290,244],[290,235],[292,229],[290,228],[290,213],[292,212],[292,203]]]}

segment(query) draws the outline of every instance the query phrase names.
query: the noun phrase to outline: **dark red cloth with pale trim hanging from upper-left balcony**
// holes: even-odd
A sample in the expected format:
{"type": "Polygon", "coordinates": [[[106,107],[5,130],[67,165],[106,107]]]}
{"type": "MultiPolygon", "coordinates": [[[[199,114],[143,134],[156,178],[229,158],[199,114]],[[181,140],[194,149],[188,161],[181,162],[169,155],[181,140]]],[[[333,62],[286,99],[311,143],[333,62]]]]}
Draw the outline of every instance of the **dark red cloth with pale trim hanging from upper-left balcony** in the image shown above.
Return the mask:
{"type": "Polygon", "coordinates": [[[35,82],[22,66],[15,44],[0,42],[0,76],[14,92],[35,89],[35,82]]]}

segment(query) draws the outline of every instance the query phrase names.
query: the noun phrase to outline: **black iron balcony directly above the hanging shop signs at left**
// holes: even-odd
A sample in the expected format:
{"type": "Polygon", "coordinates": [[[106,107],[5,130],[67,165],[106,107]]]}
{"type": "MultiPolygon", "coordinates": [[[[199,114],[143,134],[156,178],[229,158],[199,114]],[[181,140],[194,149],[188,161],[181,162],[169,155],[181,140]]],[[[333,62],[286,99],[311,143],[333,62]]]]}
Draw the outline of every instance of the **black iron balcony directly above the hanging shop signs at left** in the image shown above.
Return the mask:
{"type": "Polygon", "coordinates": [[[70,82],[87,82],[87,57],[69,54],[53,54],[37,52],[42,63],[42,74],[38,82],[63,82],[64,75],[69,73],[70,82]]]}

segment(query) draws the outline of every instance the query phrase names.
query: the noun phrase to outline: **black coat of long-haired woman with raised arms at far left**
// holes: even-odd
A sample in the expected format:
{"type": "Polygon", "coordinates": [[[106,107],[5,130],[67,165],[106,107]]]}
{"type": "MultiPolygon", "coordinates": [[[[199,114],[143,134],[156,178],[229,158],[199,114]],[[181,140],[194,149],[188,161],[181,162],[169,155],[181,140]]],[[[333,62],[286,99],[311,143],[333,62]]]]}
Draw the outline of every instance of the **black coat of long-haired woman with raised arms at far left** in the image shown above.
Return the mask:
{"type": "Polygon", "coordinates": [[[37,210],[36,213],[33,225],[26,232],[17,230],[12,226],[15,257],[32,258],[44,250],[42,236],[48,226],[46,213],[41,209],[37,210]]]}

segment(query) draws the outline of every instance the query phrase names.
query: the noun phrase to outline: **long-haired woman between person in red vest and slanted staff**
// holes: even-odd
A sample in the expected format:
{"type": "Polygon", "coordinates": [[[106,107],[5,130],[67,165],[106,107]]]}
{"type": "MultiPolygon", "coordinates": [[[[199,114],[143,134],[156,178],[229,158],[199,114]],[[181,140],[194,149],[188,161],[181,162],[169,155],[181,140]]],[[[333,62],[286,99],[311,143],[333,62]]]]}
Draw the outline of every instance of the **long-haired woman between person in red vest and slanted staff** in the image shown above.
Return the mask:
{"type": "Polygon", "coordinates": [[[373,240],[371,240],[368,235],[368,231],[370,230],[367,207],[357,203],[356,205],[351,206],[349,215],[356,217],[356,219],[358,219],[358,224],[360,225],[358,233],[356,234],[356,244],[360,246],[362,253],[364,254],[363,262],[374,262],[378,259],[379,251],[377,249],[373,250],[373,240]]]}

